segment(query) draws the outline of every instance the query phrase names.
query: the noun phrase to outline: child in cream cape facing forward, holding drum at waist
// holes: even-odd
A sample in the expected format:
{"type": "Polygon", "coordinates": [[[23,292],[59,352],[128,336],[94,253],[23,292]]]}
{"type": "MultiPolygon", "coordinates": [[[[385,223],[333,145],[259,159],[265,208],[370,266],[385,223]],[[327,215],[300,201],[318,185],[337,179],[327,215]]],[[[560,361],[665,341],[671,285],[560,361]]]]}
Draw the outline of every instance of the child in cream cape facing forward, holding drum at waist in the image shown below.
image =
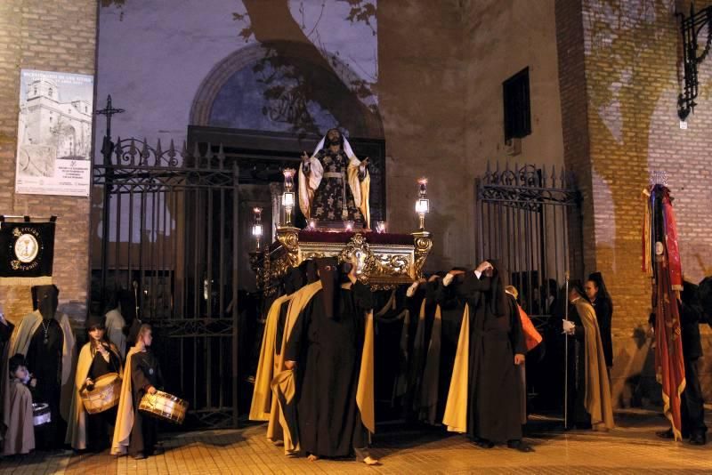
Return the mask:
{"type": "Polygon", "coordinates": [[[106,335],[105,318],[86,318],[89,341],[79,352],[65,442],[76,450],[110,447],[122,373],[121,356],[106,335]]]}

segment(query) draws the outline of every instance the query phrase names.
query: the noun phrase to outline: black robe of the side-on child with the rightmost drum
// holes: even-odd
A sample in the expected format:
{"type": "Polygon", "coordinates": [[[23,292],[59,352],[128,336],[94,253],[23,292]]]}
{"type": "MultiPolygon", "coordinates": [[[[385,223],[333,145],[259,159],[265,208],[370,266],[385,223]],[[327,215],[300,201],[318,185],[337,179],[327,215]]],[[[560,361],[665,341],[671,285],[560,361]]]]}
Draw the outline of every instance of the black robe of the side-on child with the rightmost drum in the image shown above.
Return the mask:
{"type": "Polygon", "coordinates": [[[158,365],[158,358],[150,350],[139,351],[131,357],[131,389],[134,396],[134,426],[131,429],[131,439],[128,445],[128,454],[151,455],[158,436],[156,433],[156,419],[143,415],[139,411],[139,404],[146,391],[153,386],[157,390],[163,386],[163,376],[158,365]]]}

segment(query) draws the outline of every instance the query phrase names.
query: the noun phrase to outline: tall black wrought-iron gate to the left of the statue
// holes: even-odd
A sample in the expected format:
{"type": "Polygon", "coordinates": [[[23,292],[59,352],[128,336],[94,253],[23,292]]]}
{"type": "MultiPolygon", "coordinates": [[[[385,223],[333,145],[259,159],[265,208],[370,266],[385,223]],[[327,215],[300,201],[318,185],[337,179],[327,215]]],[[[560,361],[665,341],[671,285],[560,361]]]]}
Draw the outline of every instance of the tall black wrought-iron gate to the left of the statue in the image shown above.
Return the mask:
{"type": "Polygon", "coordinates": [[[215,152],[104,141],[93,171],[93,301],[138,294],[166,390],[192,423],[238,421],[238,167],[215,152]],[[101,197],[100,200],[98,199],[101,197]],[[101,261],[101,262],[98,262],[101,261]]]}

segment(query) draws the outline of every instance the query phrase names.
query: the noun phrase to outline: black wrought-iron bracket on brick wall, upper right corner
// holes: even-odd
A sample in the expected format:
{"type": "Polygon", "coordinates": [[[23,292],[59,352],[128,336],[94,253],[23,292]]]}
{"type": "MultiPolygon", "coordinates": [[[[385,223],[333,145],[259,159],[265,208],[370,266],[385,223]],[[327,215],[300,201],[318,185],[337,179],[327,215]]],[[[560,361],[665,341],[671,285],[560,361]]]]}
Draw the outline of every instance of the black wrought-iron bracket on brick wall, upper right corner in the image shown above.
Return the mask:
{"type": "Polygon", "coordinates": [[[683,36],[683,93],[677,98],[677,115],[680,120],[685,120],[695,109],[700,82],[697,78],[698,66],[707,58],[710,44],[712,44],[712,6],[695,12],[694,2],[690,3],[690,16],[685,18],[684,13],[676,13],[680,18],[680,33],[683,36]],[[698,41],[702,27],[707,25],[707,42],[700,56],[697,55],[698,41]]]}

